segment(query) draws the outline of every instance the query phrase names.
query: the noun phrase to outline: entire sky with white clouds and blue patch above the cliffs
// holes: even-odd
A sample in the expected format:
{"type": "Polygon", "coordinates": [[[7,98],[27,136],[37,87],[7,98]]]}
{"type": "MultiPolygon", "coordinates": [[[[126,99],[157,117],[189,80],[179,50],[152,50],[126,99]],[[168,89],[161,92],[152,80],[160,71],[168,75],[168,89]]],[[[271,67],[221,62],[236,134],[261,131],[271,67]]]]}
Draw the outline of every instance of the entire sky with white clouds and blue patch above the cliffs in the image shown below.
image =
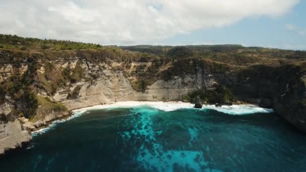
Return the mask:
{"type": "Polygon", "coordinates": [[[23,37],[306,50],[306,0],[0,0],[0,16],[23,37]]]}

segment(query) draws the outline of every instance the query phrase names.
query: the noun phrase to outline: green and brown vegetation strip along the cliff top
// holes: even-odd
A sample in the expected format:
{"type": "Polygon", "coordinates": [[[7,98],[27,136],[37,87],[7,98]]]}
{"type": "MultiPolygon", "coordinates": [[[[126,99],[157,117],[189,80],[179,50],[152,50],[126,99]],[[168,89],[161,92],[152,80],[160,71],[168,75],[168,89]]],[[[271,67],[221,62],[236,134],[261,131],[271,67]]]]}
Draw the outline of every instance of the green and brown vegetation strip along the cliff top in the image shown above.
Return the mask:
{"type": "MultiPolygon", "coordinates": [[[[263,47],[244,47],[242,45],[186,45],[186,46],[103,46],[52,39],[23,38],[16,35],[0,34],[0,50],[37,53],[44,58],[83,56],[94,58],[131,59],[148,61],[150,58],[186,59],[199,58],[237,66],[254,64],[283,65],[304,61],[306,51],[282,50],[263,47]]],[[[23,55],[24,56],[24,55],[23,55]]],[[[37,56],[37,55],[36,55],[37,56]]]]}

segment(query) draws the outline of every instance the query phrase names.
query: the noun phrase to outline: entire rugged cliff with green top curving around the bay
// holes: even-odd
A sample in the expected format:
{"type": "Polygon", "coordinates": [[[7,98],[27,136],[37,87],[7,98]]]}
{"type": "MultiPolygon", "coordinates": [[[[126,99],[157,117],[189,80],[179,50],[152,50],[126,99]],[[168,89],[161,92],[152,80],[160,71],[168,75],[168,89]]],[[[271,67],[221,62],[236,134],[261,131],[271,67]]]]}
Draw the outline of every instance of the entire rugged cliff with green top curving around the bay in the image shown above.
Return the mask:
{"type": "Polygon", "coordinates": [[[192,101],[193,96],[206,103],[242,100],[273,108],[306,132],[304,51],[13,38],[0,39],[5,45],[0,46],[0,114],[19,120],[1,124],[3,133],[16,133],[0,135],[3,149],[29,140],[22,128],[38,130],[73,109],[116,101],[192,101]]]}

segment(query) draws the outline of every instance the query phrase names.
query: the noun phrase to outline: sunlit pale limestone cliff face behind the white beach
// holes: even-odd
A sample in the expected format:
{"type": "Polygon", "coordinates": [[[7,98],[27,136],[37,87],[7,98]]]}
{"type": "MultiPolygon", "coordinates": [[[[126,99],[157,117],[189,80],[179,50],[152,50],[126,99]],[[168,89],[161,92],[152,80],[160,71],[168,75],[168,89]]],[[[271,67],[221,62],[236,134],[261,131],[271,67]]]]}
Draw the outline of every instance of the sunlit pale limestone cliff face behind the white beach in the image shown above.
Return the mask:
{"type": "Polygon", "coordinates": [[[209,66],[207,69],[202,68],[205,61],[194,59],[166,62],[158,66],[154,73],[150,73],[150,70],[154,70],[151,68],[154,68],[152,66],[155,61],[131,62],[128,67],[123,62],[113,61],[84,63],[83,72],[87,75],[95,73],[97,76],[91,80],[83,79],[71,83],[68,91],[67,88],[61,89],[52,97],[69,110],[116,101],[184,101],[188,93],[203,88],[210,89],[216,82],[231,82],[226,72],[211,72],[209,66]],[[182,68],[179,69],[180,73],[172,75],[177,72],[173,71],[178,69],[175,67],[177,63],[183,63],[189,71],[182,68]],[[67,99],[68,94],[76,88],[77,96],[67,99]]]}

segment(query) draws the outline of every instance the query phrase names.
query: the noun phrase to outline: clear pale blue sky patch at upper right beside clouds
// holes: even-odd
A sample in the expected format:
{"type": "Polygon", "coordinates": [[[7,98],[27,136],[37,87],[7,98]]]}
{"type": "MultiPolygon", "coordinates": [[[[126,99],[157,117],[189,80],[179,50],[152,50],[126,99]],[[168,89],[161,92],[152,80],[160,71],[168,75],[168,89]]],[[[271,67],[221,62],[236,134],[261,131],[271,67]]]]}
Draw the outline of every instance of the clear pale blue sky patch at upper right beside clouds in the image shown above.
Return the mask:
{"type": "Polygon", "coordinates": [[[280,17],[248,17],[223,28],[176,35],[164,40],[163,44],[242,44],[306,50],[306,1],[280,17]]]}

